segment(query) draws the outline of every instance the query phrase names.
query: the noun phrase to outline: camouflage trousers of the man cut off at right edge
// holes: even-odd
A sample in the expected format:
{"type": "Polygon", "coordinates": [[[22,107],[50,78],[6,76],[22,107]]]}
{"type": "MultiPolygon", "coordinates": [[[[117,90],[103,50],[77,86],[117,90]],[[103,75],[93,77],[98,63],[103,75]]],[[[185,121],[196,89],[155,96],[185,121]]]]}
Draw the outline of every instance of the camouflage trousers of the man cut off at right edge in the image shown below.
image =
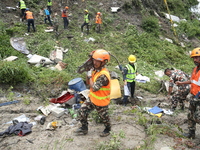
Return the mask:
{"type": "Polygon", "coordinates": [[[188,113],[188,129],[196,130],[196,123],[200,124],[200,99],[191,98],[188,113]]]}

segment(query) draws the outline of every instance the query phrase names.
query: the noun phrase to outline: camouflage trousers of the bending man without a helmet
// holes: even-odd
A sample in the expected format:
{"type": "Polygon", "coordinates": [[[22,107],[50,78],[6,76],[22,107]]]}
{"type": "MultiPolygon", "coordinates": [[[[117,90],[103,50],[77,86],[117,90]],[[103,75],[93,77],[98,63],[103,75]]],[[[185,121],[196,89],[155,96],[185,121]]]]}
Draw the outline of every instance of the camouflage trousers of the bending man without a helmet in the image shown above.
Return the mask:
{"type": "Polygon", "coordinates": [[[176,108],[178,103],[181,108],[184,108],[184,100],[186,100],[187,95],[189,94],[189,89],[179,88],[174,95],[172,95],[172,108],[176,108]]]}

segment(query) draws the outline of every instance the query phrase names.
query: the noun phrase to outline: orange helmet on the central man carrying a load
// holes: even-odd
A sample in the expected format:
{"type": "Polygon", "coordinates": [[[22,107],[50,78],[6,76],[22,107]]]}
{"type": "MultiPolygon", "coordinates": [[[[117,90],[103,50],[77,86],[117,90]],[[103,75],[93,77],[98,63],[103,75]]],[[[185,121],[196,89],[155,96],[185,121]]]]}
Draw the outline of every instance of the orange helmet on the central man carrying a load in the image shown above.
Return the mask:
{"type": "Polygon", "coordinates": [[[93,55],[92,58],[95,60],[99,60],[101,62],[103,62],[104,60],[110,60],[110,54],[104,50],[104,49],[97,49],[93,55]]]}

